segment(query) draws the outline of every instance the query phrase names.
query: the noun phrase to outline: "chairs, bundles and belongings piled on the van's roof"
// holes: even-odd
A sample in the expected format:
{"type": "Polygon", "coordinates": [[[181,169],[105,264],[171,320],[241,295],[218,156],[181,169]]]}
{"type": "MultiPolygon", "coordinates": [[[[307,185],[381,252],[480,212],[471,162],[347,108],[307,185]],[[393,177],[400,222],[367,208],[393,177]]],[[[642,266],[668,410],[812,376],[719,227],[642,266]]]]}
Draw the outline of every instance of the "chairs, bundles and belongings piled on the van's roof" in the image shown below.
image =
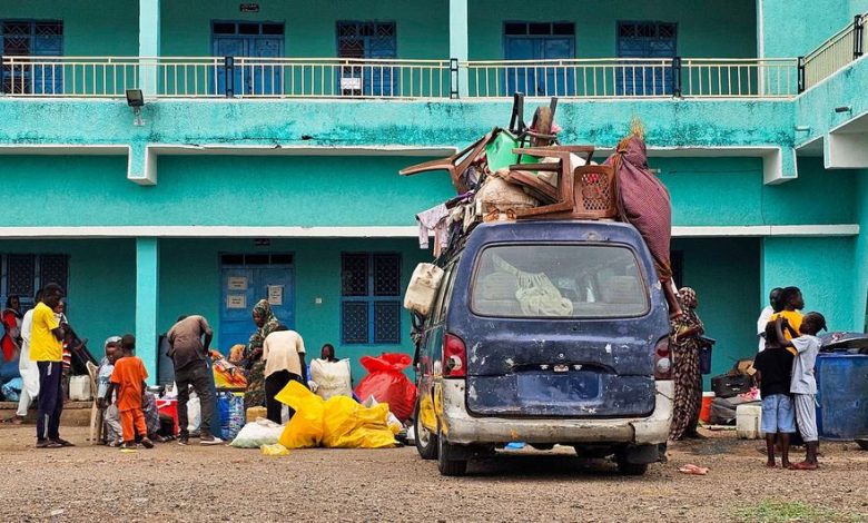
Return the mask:
{"type": "MultiPolygon", "coordinates": [[[[633,225],[654,258],[672,315],[675,298],[670,263],[672,207],[665,186],[648,167],[644,127],[634,119],[627,138],[602,165],[592,146],[558,144],[558,100],[524,124],[516,95],[510,129],[494,128],[460,152],[401,170],[410,176],[446,170],[457,196],[416,215],[420,247],[434,235],[440,258],[480,223],[516,219],[614,219],[633,225]]],[[[421,313],[420,313],[421,314],[421,313]]]]}

